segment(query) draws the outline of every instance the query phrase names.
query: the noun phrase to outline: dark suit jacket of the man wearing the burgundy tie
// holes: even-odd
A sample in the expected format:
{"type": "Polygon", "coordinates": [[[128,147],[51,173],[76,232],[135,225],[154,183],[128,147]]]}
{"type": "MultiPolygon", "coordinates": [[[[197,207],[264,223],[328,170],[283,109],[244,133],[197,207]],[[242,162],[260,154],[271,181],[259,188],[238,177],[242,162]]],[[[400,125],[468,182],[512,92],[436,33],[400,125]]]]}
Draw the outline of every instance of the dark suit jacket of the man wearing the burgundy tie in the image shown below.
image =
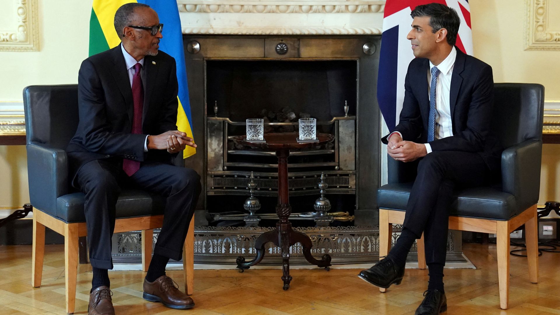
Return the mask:
{"type": "Polygon", "coordinates": [[[118,157],[172,164],[177,154],[144,152],[144,142],[147,135],[177,129],[175,59],[161,51],[147,55],[142,72],[142,134],[133,134],[132,89],[120,45],[82,62],[78,75],[80,122],[66,150],[71,178],[82,165],[96,159],[118,157]]]}

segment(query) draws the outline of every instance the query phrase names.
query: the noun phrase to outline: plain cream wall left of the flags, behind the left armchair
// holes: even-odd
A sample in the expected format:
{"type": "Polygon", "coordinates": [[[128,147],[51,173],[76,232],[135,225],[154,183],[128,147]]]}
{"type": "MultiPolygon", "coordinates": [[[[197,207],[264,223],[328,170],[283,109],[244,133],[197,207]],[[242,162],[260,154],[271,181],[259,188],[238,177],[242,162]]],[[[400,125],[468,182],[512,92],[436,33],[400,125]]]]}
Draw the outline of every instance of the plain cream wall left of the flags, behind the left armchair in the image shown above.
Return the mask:
{"type": "MultiPolygon", "coordinates": [[[[11,4],[0,2],[0,10],[11,4]]],[[[39,52],[0,52],[0,101],[32,84],[74,84],[87,58],[91,1],[39,0],[39,52]]],[[[24,146],[0,146],[0,207],[29,202],[24,146]]]]}

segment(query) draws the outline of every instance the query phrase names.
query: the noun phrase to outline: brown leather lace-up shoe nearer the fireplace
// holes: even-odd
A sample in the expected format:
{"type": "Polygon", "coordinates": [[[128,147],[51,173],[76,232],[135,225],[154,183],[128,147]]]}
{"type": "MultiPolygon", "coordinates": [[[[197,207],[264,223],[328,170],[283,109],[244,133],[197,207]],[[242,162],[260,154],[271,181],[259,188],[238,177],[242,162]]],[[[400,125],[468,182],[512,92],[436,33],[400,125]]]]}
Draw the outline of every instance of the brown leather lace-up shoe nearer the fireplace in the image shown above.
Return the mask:
{"type": "Polygon", "coordinates": [[[161,302],[170,308],[186,309],[194,306],[193,299],[179,291],[179,286],[175,281],[166,275],[158,277],[153,282],[144,279],[142,297],[150,302],[161,302]]]}

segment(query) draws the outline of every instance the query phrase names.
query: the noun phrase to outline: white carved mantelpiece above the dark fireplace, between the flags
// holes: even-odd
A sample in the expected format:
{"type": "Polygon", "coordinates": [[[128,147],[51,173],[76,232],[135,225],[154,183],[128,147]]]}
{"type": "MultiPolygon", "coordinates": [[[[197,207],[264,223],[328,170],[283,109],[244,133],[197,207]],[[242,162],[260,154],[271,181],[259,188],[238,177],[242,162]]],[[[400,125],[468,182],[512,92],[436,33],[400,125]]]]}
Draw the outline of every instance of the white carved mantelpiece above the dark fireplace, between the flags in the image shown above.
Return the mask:
{"type": "Polygon", "coordinates": [[[385,0],[178,0],[183,34],[377,35],[385,0]]]}

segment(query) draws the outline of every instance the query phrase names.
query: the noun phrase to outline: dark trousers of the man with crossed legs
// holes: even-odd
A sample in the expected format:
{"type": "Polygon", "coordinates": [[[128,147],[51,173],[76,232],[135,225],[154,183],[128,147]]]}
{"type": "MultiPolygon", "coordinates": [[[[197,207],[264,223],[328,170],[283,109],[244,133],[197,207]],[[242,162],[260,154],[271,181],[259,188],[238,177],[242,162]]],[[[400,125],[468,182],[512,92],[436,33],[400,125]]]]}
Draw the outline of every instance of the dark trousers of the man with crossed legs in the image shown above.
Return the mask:
{"type": "Polygon", "coordinates": [[[489,168],[477,153],[436,151],[419,161],[403,226],[417,238],[424,233],[426,263],[445,265],[454,189],[487,186],[496,178],[496,167],[489,168]]]}

